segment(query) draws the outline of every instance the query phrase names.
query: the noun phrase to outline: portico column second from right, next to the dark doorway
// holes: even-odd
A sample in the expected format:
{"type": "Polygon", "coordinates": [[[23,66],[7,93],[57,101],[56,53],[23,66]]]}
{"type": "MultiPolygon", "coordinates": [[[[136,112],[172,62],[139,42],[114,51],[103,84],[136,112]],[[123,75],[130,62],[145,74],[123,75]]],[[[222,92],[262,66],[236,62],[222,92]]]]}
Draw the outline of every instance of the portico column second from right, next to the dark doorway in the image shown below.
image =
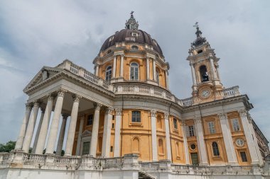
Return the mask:
{"type": "Polygon", "coordinates": [[[90,155],[96,157],[97,154],[97,137],[99,134],[99,111],[101,105],[95,104],[95,114],[94,114],[94,121],[92,127],[92,137],[91,137],[91,145],[90,145],[90,155]]]}

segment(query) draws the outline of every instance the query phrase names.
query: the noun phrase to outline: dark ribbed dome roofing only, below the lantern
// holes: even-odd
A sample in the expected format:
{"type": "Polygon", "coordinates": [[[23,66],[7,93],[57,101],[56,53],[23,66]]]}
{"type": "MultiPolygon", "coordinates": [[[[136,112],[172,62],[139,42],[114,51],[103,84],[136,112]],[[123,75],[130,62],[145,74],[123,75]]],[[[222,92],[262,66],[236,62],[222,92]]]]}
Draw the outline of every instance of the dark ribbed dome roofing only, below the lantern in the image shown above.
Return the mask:
{"type": "Polygon", "coordinates": [[[114,35],[107,38],[107,40],[105,40],[103,43],[100,51],[104,51],[107,48],[112,47],[117,42],[135,42],[139,44],[148,44],[153,46],[153,49],[161,54],[161,56],[163,56],[161,47],[159,47],[157,42],[154,42],[148,33],[144,32],[143,30],[132,30],[128,28],[122,29],[119,32],[117,31],[114,35]],[[131,33],[137,33],[138,36],[132,36],[131,33]]]}

